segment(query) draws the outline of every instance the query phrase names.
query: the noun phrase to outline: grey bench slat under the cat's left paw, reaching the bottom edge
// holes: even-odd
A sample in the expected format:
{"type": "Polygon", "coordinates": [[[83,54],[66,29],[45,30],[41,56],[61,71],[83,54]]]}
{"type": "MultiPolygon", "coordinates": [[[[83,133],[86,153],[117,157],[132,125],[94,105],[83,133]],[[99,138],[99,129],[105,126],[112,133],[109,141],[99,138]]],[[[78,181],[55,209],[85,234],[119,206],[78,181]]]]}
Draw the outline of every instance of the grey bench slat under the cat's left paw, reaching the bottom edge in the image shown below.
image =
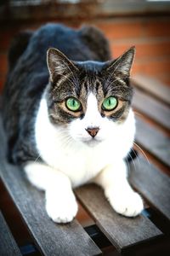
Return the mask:
{"type": "MultiPolygon", "coordinates": [[[[99,247],[77,220],[54,224],[45,211],[44,195],[27,182],[23,170],[9,165],[4,158],[4,135],[0,129],[0,174],[18,207],[31,236],[44,255],[99,255],[99,247]]],[[[68,209],[69,210],[69,209],[68,209]]]]}

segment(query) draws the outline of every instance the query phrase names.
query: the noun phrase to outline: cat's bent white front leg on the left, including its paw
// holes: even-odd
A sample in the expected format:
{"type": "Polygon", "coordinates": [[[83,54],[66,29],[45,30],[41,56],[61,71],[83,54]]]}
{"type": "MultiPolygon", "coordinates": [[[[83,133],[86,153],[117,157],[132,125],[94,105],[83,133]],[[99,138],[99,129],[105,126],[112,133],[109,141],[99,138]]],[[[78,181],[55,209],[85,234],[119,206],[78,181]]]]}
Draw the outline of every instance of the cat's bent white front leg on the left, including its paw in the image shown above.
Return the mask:
{"type": "Polygon", "coordinates": [[[45,190],[48,216],[57,223],[71,222],[78,207],[70,179],[64,173],[37,162],[28,163],[25,172],[33,185],[45,190]]]}

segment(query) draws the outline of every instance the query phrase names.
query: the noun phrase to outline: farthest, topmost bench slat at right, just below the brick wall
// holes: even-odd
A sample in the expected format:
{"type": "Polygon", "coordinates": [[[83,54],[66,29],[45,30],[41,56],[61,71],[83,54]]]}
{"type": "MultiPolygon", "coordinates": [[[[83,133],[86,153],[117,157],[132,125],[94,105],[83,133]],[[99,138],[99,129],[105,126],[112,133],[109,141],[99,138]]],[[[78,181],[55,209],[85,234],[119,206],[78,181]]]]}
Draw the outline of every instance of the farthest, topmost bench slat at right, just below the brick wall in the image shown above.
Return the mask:
{"type": "Polygon", "coordinates": [[[157,79],[138,74],[133,77],[132,81],[135,86],[150,92],[153,96],[161,99],[161,101],[170,104],[170,88],[157,79]]]}

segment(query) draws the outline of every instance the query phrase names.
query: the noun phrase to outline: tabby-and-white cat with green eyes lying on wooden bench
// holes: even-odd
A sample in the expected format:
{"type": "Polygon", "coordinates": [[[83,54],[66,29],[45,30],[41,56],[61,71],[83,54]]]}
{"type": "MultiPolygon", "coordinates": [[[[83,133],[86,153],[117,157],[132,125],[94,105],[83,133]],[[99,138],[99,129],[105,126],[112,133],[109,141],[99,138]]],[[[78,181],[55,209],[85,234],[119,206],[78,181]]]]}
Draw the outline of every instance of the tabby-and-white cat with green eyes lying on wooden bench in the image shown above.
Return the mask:
{"type": "Polygon", "coordinates": [[[125,163],[135,133],[129,83],[134,54],[131,47],[111,60],[108,41],[95,27],[57,24],[21,33],[9,50],[3,90],[8,159],[45,191],[56,223],[76,217],[72,189],[84,183],[102,187],[124,216],[143,210],[125,163]]]}

